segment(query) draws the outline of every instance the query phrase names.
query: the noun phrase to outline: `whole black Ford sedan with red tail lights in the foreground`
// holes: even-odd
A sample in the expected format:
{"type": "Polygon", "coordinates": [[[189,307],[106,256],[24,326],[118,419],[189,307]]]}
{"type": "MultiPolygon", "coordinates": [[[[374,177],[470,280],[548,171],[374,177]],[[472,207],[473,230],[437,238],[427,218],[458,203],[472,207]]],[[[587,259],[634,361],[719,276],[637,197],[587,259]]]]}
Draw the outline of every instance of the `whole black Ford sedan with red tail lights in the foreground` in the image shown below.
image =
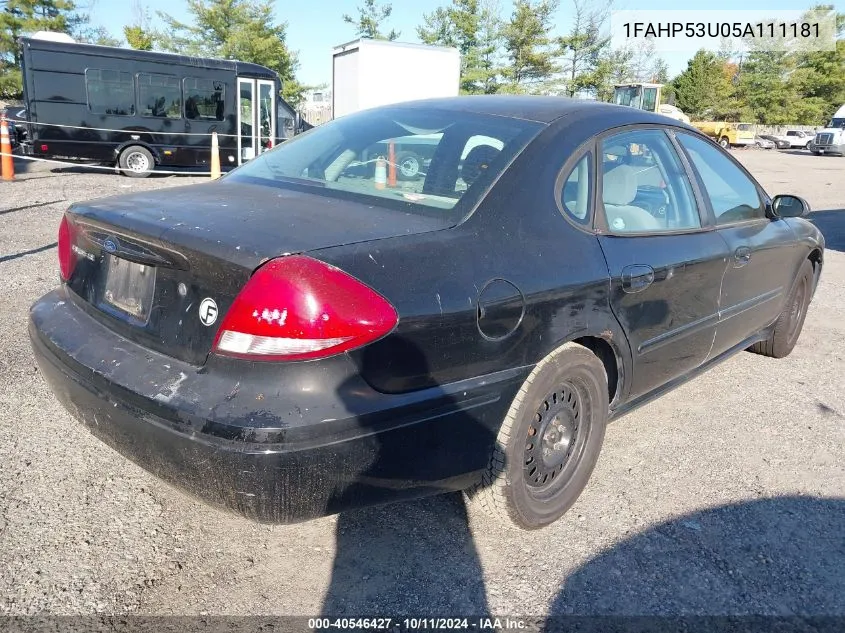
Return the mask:
{"type": "Polygon", "coordinates": [[[219,181],[74,204],[29,332],[93,434],[253,519],[465,490],[537,528],[608,420],[791,352],[824,257],[808,211],[635,108],[414,102],[219,181]],[[401,180],[384,148],[409,136],[437,147],[401,180]]]}

